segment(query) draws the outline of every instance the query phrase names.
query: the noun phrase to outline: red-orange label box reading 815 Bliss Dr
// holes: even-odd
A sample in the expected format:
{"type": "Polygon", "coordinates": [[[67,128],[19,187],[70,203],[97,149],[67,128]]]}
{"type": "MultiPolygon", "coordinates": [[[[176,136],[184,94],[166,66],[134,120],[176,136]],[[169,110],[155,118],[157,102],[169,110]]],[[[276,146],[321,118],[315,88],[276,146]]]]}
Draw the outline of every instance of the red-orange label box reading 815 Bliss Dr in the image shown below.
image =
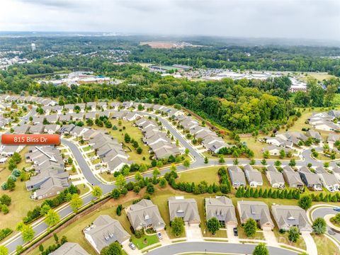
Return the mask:
{"type": "Polygon", "coordinates": [[[60,135],[1,135],[3,145],[60,145],[60,135]]]}

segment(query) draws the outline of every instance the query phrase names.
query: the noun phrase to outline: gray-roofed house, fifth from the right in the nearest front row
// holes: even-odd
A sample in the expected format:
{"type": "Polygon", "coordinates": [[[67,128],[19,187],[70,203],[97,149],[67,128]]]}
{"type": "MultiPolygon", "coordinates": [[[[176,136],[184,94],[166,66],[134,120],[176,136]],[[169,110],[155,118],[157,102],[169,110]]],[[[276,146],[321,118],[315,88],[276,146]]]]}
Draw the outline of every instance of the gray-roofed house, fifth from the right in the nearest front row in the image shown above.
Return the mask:
{"type": "Polygon", "coordinates": [[[125,209],[133,229],[152,228],[155,231],[164,229],[165,222],[159,213],[157,205],[151,200],[142,199],[140,202],[130,205],[125,209]]]}

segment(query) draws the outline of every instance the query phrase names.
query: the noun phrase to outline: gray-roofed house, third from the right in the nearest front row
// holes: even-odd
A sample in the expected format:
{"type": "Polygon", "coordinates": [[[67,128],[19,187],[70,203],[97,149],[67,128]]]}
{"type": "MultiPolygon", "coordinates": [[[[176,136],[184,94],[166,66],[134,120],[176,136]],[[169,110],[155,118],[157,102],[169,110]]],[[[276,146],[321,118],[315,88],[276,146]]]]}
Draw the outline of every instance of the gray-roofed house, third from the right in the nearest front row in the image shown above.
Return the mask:
{"type": "Polygon", "coordinates": [[[225,196],[205,198],[205,218],[216,217],[223,226],[237,226],[237,218],[232,200],[225,196]]]}

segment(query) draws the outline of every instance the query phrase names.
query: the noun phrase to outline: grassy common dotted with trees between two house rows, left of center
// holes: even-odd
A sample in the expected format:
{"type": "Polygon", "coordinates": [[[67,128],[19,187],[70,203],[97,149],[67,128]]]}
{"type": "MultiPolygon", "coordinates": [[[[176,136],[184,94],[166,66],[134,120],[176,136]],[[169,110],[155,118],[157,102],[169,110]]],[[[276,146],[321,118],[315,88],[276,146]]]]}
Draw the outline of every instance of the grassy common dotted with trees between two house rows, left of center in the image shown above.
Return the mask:
{"type": "Polygon", "coordinates": [[[112,125],[115,125],[118,130],[112,130],[112,128],[98,128],[93,127],[94,129],[102,129],[105,132],[108,132],[110,135],[112,135],[115,139],[118,140],[118,142],[122,142],[125,151],[127,152],[129,159],[135,162],[136,164],[151,164],[151,160],[149,159],[149,147],[147,145],[144,145],[142,142],[142,132],[139,128],[134,127],[132,125],[132,122],[128,122],[125,120],[122,121],[122,125],[118,125],[119,120],[111,120],[112,125]],[[123,130],[123,127],[125,127],[125,130],[123,130]],[[119,130],[122,129],[120,132],[119,130]],[[124,135],[125,133],[128,133],[130,135],[131,139],[135,139],[140,147],[143,149],[142,154],[137,154],[136,149],[132,147],[132,144],[125,143],[124,141],[124,135]],[[143,160],[143,157],[145,157],[145,160],[143,160]]]}

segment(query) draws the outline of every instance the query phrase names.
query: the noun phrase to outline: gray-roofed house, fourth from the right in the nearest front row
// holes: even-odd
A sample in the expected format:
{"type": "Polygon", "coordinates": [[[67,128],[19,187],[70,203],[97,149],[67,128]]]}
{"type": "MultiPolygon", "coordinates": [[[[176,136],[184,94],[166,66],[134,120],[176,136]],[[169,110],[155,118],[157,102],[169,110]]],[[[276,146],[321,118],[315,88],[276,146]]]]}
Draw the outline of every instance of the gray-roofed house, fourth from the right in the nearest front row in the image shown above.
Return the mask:
{"type": "Polygon", "coordinates": [[[175,217],[181,217],[185,223],[190,225],[200,224],[200,215],[195,199],[176,196],[169,198],[168,204],[170,221],[175,217]]]}

